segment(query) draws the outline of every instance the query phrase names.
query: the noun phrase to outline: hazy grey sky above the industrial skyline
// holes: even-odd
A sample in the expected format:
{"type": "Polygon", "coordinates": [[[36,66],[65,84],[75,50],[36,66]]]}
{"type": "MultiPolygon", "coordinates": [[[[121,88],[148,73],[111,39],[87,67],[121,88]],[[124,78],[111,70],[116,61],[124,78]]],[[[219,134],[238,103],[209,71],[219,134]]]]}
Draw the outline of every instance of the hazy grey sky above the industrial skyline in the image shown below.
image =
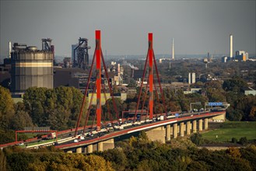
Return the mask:
{"type": "Polygon", "coordinates": [[[71,44],[101,30],[107,54],[146,54],[153,32],[155,54],[256,54],[256,1],[0,1],[1,55],[8,42],[35,45],[50,37],[57,55],[71,55],[71,44]]]}

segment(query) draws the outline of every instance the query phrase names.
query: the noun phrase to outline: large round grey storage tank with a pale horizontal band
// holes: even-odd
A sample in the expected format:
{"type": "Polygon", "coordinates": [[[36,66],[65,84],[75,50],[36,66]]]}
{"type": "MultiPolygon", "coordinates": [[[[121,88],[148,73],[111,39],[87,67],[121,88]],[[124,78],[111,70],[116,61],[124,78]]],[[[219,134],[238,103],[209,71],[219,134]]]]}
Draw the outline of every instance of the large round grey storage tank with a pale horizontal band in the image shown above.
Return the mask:
{"type": "Polygon", "coordinates": [[[50,48],[37,50],[37,47],[26,47],[26,44],[15,43],[12,49],[12,92],[25,92],[33,86],[53,88],[54,54],[50,48]]]}

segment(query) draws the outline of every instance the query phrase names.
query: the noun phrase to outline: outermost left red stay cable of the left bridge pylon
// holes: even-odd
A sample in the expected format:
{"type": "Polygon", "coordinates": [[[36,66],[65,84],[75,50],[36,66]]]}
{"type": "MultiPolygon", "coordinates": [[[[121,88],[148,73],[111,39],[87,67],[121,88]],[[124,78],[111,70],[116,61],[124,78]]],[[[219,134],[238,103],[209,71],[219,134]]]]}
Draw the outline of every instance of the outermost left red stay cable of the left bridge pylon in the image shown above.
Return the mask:
{"type": "Polygon", "coordinates": [[[87,92],[88,92],[88,89],[89,89],[89,82],[90,82],[90,79],[91,79],[91,76],[92,76],[93,64],[94,64],[94,61],[95,61],[96,49],[97,49],[97,48],[98,48],[98,44],[96,44],[96,47],[95,47],[95,50],[94,50],[94,54],[93,54],[92,65],[91,65],[91,68],[89,69],[89,77],[88,77],[88,79],[87,79],[86,92],[85,92],[84,95],[83,95],[82,106],[81,106],[81,108],[80,108],[79,118],[78,118],[77,123],[76,123],[74,137],[77,135],[77,131],[78,131],[78,128],[79,128],[80,120],[81,120],[81,117],[82,117],[82,110],[83,110],[84,105],[85,105],[85,103],[86,103],[86,96],[87,96],[87,92]]]}

